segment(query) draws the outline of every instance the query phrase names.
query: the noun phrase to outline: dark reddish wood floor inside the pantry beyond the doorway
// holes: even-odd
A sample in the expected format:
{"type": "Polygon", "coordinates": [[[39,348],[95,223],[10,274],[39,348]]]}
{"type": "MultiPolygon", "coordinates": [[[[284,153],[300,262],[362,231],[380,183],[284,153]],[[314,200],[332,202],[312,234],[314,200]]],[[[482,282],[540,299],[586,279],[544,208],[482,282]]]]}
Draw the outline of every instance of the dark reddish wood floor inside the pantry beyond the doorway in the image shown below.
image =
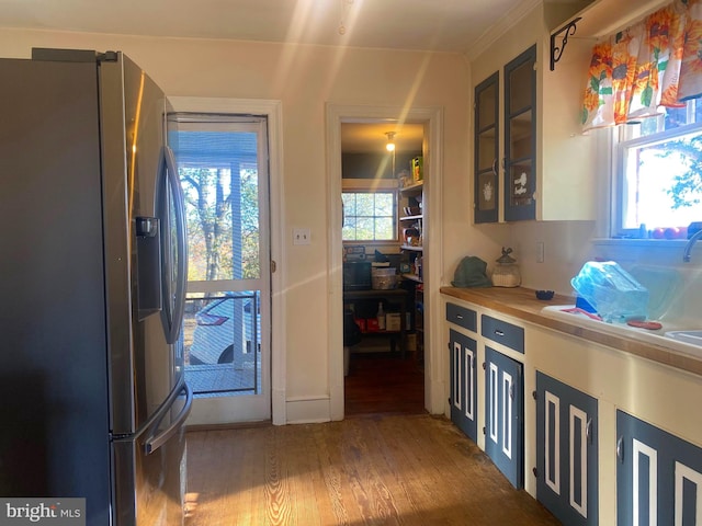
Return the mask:
{"type": "Polygon", "coordinates": [[[344,391],[346,418],[426,412],[424,371],[411,354],[352,353],[344,391]]]}

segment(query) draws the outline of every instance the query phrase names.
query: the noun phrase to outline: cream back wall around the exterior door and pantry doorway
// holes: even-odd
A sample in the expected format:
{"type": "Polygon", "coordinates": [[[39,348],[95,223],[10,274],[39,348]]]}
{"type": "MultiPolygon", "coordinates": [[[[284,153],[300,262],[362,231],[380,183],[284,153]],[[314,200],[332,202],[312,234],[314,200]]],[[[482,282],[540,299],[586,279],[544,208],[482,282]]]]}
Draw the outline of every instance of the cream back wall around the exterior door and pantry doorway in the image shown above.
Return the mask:
{"type": "Polygon", "coordinates": [[[285,396],[295,411],[309,402],[304,419],[329,418],[327,103],[443,107],[443,283],[463,255],[502,244],[471,228],[471,82],[460,55],[0,30],[0,56],[29,58],[32,47],[122,50],[169,95],[282,101],[285,396]],[[310,228],[310,245],[292,244],[294,227],[310,228]]]}

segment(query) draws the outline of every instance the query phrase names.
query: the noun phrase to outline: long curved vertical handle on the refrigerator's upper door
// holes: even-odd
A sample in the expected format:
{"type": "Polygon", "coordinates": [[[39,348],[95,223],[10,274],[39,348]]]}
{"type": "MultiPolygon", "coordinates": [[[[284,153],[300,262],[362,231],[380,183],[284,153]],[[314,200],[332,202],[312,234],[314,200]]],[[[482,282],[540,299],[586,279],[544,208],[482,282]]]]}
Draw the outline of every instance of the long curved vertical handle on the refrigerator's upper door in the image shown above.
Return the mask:
{"type": "MultiPolygon", "coordinates": [[[[178,170],[176,168],[176,159],[173,157],[173,150],[168,146],[163,146],[162,150],[163,169],[166,170],[168,180],[167,184],[170,186],[171,195],[173,196],[173,214],[176,216],[176,231],[177,231],[177,249],[178,249],[178,268],[176,275],[176,294],[173,298],[173,311],[170,312],[169,327],[166,331],[166,341],[168,343],[176,343],[180,336],[181,322],[183,319],[183,312],[185,310],[185,287],[188,285],[188,253],[185,245],[185,204],[183,199],[183,193],[178,179],[178,170]]],[[[168,195],[168,192],[166,193],[168,195]]],[[[170,298],[168,301],[170,305],[170,298]]]]}

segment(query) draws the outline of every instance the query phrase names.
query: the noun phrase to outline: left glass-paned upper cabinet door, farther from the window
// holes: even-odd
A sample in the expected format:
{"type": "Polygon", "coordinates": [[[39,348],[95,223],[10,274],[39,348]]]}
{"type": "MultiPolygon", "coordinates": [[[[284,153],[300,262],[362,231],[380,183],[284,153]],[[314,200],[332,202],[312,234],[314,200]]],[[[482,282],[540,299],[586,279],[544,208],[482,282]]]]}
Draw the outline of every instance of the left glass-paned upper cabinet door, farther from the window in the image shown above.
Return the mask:
{"type": "Polygon", "coordinates": [[[499,73],[475,87],[475,222],[498,220],[499,73]]]}

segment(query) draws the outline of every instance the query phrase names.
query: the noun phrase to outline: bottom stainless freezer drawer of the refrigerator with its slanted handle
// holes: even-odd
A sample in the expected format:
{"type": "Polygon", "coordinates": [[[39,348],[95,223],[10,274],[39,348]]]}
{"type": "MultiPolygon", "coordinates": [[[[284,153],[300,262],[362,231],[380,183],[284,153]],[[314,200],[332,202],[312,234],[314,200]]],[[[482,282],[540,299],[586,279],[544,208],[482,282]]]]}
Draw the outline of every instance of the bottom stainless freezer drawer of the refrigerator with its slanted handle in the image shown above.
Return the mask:
{"type": "Polygon", "coordinates": [[[192,391],[181,382],[150,425],[114,442],[115,526],[183,524],[185,434],[192,391]],[[120,481],[134,480],[134,485],[120,481]]]}

